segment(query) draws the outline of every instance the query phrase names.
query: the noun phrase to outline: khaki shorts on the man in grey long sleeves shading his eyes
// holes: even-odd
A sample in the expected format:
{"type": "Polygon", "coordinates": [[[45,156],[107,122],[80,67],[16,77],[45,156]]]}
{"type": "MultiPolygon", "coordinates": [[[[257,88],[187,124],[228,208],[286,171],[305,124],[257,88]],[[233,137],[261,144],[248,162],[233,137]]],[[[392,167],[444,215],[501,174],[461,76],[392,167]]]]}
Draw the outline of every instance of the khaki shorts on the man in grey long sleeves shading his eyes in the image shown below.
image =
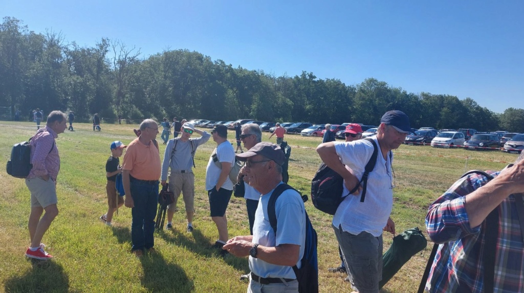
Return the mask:
{"type": "Polygon", "coordinates": [[[174,194],[174,202],[168,206],[171,212],[177,209],[180,192],[184,198],[185,212],[194,211],[195,175],[193,173],[171,172],[169,190],[174,194]]]}

